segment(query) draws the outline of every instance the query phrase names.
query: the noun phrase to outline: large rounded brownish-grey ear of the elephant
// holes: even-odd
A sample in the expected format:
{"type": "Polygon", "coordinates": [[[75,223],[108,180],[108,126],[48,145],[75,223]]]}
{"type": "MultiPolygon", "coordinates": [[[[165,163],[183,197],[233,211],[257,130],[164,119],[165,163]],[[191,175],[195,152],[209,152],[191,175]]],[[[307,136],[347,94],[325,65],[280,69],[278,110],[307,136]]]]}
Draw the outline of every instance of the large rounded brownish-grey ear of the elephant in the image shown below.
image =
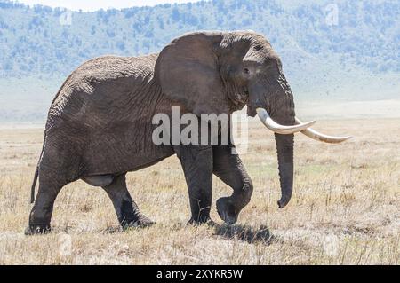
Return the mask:
{"type": "Polygon", "coordinates": [[[155,73],[167,98],[196,115],[228,113],[216,55],[221,40],[219,33],[191,33],[164,47],[155,73]]]}

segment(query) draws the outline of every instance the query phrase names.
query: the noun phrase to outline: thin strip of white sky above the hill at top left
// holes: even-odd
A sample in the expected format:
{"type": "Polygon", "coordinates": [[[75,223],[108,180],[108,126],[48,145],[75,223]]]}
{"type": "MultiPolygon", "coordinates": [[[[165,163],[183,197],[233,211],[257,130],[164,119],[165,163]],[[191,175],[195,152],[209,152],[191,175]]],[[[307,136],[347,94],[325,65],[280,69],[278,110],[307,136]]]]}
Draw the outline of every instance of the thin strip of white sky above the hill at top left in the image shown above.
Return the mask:
{"type": "Polygon", "coordinates": [[[24,4],[43,4],[51,7],[65,7],[70,10],[95,11],[100,8],[107,9],[113,7],[116,9],[132,6],[151,6],[165,3],[188,3],[198,0],[17,0],[16,2],[24,4]]]}

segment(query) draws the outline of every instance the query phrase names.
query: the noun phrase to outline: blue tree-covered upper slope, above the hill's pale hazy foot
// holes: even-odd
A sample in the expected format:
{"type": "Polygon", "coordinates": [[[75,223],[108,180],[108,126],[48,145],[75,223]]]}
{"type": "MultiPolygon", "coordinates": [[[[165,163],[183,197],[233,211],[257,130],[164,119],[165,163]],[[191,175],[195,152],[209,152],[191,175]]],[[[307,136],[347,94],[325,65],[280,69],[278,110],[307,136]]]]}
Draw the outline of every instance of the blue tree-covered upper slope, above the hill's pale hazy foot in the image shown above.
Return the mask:
{"type": "Polygon", "coordinates": [[[160,51],[173,37],[199,29],[252,29],[268,37],[292,64],[309,56],[375,72],[400,71],[400,3],[340,1],[338,22],[327,24],[326,2],[279,4],[213,0],[98,12],[0,0],[0,76],[67,75],[102,54],[160,51]],[[296,56],[291,56],[296,54],[296,56]]]}

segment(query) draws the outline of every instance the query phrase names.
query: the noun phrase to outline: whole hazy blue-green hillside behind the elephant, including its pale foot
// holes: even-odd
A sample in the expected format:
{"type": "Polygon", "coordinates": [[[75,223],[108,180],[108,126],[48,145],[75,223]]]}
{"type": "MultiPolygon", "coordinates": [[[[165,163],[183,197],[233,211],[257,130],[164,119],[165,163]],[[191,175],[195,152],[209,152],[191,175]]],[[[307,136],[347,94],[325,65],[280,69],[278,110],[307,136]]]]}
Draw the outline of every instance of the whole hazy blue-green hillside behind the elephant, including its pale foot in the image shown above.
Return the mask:
{"type": "Polygon", "coordinates": [[[214,0],[68,14],[0,0],[0,119],[43,119],[86,59],[160,51],[199,29],[266,35],[297,100],[400,97],[400,3],[336,1],[337,22],[331,3],[214,0]]]}

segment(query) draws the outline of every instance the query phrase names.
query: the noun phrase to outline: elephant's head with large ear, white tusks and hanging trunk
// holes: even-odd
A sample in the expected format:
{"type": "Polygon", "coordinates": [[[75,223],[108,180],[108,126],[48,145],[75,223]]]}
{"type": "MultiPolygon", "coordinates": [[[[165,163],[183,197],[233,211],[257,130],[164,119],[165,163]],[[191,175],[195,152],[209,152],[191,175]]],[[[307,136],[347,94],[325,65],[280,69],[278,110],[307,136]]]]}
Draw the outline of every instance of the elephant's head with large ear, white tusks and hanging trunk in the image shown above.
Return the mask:
{"type": "Polygon", "coordinates": [[[338,143],[349,137],[330,137],[311,130],[314,122],[295,116],[292,90],[282,63],[266,38],[252,31],[197,32],[168,44],[156,61],[156,80],[163,93],[188,112],[230,114],[247,106],[275,132],[282,197],[289,202],[293,186],[293,134],[338,143]]]}

